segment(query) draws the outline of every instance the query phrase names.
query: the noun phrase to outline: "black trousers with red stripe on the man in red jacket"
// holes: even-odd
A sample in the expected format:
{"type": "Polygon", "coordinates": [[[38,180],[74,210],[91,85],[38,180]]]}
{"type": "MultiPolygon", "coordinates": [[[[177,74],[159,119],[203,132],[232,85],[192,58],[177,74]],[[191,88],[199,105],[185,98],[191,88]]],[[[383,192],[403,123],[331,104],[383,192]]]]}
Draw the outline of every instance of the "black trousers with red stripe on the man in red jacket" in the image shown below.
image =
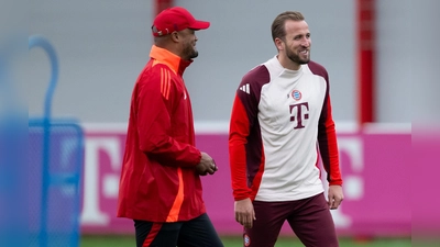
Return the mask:
{"type": "Polygon", "coordinates": [[[208,214],[187,222],[134,221],[138,247],[223,247],[208,214]]]}

